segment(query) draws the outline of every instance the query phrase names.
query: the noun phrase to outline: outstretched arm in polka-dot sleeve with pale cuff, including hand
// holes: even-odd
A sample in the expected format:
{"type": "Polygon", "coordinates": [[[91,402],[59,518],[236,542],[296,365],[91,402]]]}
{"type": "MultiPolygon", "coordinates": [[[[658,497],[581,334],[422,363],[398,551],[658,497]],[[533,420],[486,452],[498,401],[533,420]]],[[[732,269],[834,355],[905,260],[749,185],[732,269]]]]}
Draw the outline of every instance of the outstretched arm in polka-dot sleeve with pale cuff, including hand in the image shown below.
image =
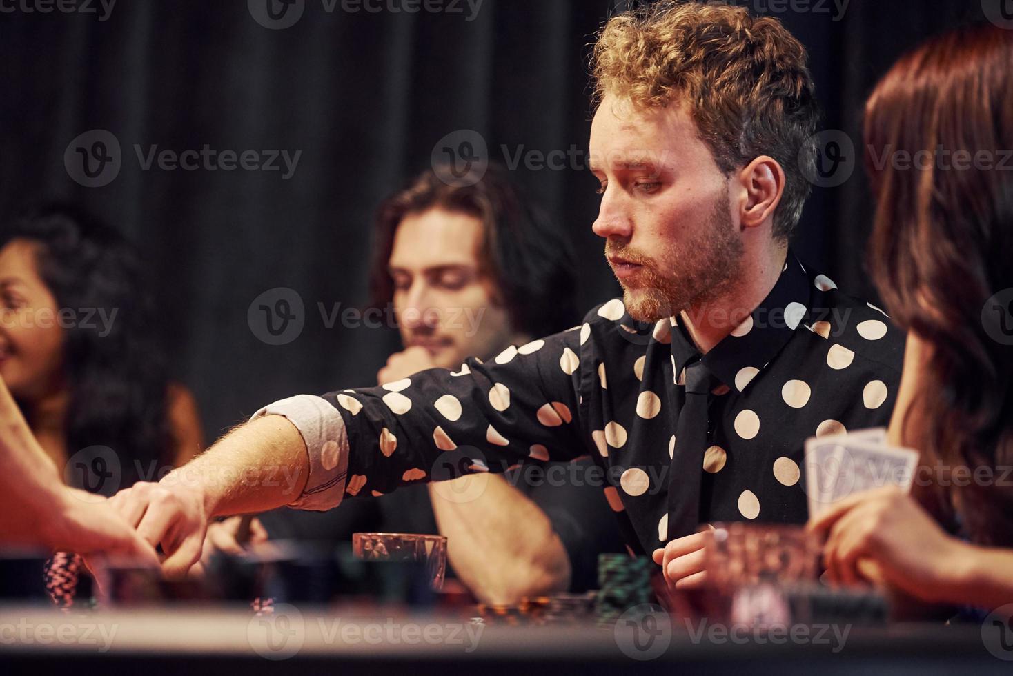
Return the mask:
{"type": "Polygon", "coordinates": [[[531,456],[573,459],[587,452],[574,416],[578,341],[575,331],[558,334],[491,364],[469,359],[457,372],[276,402],[159,484],[113,502],[162,545],[171,575],[198,561],[214,516],[324,510],[345,496],[503,472],[531,456]]]}

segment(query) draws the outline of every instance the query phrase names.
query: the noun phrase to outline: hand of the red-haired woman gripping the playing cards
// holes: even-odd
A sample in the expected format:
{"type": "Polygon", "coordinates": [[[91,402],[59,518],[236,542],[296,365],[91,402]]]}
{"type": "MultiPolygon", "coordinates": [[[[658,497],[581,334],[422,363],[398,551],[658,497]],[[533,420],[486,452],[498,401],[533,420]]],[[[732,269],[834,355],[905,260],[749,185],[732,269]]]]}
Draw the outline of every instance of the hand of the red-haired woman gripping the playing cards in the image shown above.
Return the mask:
{"type": "Polygon", "coordinates": [[[967,546],[895,487],[852,495],[808,528],[827,536],[824,564],[832,583],[885,582],[928,602],[949,600],[967,546]]]}

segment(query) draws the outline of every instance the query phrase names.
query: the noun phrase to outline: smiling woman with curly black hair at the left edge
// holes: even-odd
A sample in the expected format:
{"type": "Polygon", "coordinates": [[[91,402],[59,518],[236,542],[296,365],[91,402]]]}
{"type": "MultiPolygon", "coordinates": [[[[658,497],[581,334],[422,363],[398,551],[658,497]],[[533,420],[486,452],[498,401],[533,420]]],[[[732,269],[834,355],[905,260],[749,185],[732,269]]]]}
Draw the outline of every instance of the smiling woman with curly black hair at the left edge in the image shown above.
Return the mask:
{"type": "Polygon", "coordinates": [[[197,407],[166,374],[134,248],[62,207],[15,220],[0,244],[0,376],[57,467],[105,446],[122,471],[111,483],[130,485],[201,450],[197,407]]]}

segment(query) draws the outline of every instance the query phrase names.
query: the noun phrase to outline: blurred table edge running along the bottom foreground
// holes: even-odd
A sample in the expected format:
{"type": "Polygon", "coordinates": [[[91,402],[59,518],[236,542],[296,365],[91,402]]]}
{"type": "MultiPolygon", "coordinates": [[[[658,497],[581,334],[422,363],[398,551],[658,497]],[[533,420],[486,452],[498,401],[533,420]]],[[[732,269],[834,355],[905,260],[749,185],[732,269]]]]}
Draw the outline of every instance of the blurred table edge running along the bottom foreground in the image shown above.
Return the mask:
{"type": "Polygon", "coordinates": [[[503,626],[440,615],[342,616],[280,607],[63,613],[0,606],[4,673],[446,675],[617,670],[675,674],[1013,674],[1013,648],[977,625],[795,625],[772,635],[685,620],[600,628],[503,626]],[[990,651],[991,648],[991,651],[990,651]],[[1006,652],[1002,652],[1006,650],[1006,652]],[[996,656],[1009,658],[1010,661],[996,656]],[[241,671],[239,671],[241,670],[241,671]]]}

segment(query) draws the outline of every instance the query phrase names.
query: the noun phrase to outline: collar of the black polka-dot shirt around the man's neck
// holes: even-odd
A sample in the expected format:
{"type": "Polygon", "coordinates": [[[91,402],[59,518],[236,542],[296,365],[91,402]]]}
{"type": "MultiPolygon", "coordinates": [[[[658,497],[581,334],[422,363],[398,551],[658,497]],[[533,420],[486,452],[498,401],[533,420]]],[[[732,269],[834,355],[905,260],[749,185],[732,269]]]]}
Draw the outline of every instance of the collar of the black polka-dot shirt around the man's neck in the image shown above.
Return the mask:
{"type": "MultiPolygon", "coordinates": [[[[703,363],[721,383],[742,392],[781,351],[808,319],[809,275],[789,250],[784,269],[767,298],[728,336],[703,355],[703,363]]],[[[671,318],[672,361],[676,383],[687,362],[699,355],[686,328],[671,318]]]]}

